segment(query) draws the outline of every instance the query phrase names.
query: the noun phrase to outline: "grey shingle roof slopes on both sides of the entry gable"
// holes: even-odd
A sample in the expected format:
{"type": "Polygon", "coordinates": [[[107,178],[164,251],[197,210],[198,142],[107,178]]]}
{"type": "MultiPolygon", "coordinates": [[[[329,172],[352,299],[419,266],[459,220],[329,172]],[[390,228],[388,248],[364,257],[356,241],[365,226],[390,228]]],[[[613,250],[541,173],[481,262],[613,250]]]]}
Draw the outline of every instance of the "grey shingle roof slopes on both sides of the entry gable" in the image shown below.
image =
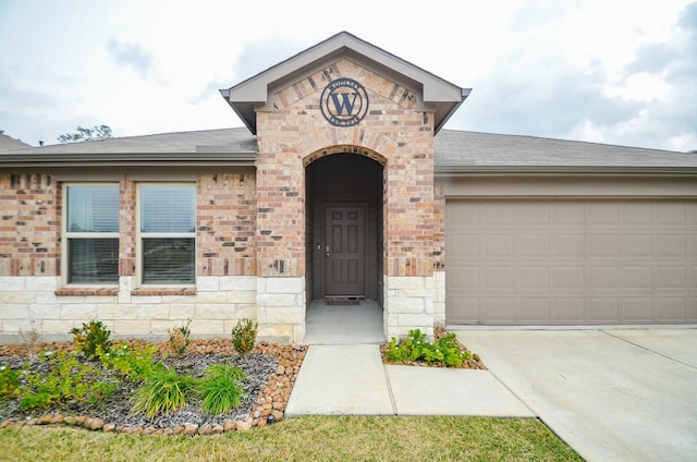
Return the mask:
{"type": "MultiPolygon", "coordinates": [[[[535,136],[441,130],[436,136],[436,167],[643,167],[697,168],[697,155],[598,143],[552,139],[535,136]]],[[[204,153],[257,153],[257,139],[246,127],[204,130],[195,132],[161,133],[155,135],[110,138],[97,142],[59,144],[0,153],[3,157],[22,155],[51,155],[77,159],[90,155],[113,158],[113,155],[137,156],[204,153]]]]}

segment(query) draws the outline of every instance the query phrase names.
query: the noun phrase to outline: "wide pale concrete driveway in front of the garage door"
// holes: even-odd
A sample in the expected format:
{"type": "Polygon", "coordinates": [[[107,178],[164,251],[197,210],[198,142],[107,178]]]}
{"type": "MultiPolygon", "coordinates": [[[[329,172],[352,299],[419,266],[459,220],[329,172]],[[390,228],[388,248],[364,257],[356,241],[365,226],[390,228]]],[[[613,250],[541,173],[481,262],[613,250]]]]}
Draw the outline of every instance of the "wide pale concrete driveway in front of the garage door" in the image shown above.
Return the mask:
{"type": "Polygon", "coordinates": [[[697,329],[456,333],[584,459],[697,460],[697,329]]]}

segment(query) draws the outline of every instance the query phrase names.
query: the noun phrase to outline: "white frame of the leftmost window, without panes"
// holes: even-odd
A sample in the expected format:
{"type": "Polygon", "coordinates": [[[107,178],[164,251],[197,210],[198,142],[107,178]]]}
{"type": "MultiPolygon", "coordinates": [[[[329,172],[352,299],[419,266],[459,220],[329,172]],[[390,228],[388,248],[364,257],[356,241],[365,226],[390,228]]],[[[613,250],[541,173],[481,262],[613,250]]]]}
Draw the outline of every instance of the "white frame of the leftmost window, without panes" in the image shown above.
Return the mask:
{"type": "MultiPolygon", "coordinates": [[[[117,266],[117,281],[115,282],[70,282],[69,281],[69,241],[71,239],[115,239],[120,252],[120,229],[114,232],[69,232],[68,231],[68,189],[69,187],[80,187],[80,186],[111,186],[119,189],[119,182],[113,181],[103,181],[103,182],[65,182],[61,185],[61,285],[71,287],[71,288],[112,288],[119,287],[119,268],[120,265],[117,266]]],[[[119,193],[121,194],[121,193],[119,193]]],[[[119,203],[119,209],[121,208],[121,203],[119,203]]],[[[119,223],[121,224],[121,223],[119,223]]],[[[119,227],[120,228],[120,227],[119,227]]],[[[119,255],[119,262],[121,262],[121,256],[119,255]]]]}

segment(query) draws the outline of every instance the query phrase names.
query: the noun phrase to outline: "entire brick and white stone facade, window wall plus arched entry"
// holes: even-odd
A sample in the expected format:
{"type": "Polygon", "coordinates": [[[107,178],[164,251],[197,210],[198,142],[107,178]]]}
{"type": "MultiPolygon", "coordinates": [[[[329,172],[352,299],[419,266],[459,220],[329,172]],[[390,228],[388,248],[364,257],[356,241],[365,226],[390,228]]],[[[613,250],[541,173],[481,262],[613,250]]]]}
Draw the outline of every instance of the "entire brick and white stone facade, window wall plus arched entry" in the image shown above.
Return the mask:
{"type": "MultiPolygon", "coordinates": [[[[196,184],[195,287],[138,283],[137,184],[144,178],[168,182],[167,171],[99,172],[120,189],[114,287],[64,283],[62,186],[56,177],[1,174],[0,336],[27,330],[36,319],[49,336],[65,336],[89,319],[103,321],[118,336],[166,335],[187,318],[194,333],[220,336],[249,317],[258,320],[261,338],[302,341],[311,299],[308,275],[317,270],[308,251],[314,243],[306,169],[340,154],[382,166],[382,183],[375,184],[375,191],[382,190],[382,209],[371,224],[374,234],[381,230],[382,235],[366,248],[382,252],[371,254],[372,271],[381,271],[371,283],[379,287],[386,338],[413,328],[432,335],[435,324],[444,321],[444,199],[433,184],[436,115],[423,95],[358,62],[339,57],[271,88],[267,106],[255,107],[256,173],[200,168],[184,174],[196,184]],[[353,126],[334,126],[322,114],[320,95],[340,77],[367,92],[368,110],[353,126]]],[[[172,178],[182,181],[182,174],[172,178]]]]}

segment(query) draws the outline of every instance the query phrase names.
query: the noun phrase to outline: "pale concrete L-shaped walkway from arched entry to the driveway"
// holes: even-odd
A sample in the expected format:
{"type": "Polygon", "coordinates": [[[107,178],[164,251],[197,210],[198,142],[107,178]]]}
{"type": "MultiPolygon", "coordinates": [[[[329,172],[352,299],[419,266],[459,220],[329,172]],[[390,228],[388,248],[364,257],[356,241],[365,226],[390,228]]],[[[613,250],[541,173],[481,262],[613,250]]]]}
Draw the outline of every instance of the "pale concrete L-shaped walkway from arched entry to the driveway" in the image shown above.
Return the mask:
{"type": "Polygon", "coordinates": [[[384,366],[377,344],[310,345],[285,414],[534,414],[486,370],[384,366]]]}

